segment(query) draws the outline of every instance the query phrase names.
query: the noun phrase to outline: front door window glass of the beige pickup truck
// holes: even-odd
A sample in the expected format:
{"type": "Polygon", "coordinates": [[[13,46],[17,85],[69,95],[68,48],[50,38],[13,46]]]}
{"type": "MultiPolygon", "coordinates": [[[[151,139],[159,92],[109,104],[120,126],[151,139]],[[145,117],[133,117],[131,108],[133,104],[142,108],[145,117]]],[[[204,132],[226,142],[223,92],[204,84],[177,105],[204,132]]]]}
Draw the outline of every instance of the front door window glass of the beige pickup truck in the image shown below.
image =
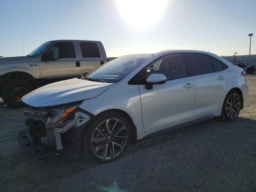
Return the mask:
{"type": "Polygon", "coordinates": [[[55,59],[76,58],[76,51],[72,42],[57,42],[49,50],[53,51],[55,59]]]}

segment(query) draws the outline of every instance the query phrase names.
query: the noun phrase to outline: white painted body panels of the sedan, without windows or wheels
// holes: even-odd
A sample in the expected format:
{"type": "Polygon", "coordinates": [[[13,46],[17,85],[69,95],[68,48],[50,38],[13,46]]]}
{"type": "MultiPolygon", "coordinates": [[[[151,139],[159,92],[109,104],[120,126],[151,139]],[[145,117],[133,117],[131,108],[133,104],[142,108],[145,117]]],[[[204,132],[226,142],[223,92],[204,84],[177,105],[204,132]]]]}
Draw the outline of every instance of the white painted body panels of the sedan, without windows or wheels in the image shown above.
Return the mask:
{"type": "Polygon", "coordinates": [[[22,100],[32,106],[51,106],[84,100],[79,107],[94,115],[109,109],[123,110],[132,118],[137,128],[137,138],[141,139],[158,130],[197,118],[220,116],[224,98],[232,88],[242,91],[245,103],[248,86],[241,72],[241,68],[209,52],[169,50],[154,54],[115,84],[71,79],[39,88],[22,100]],[[159,57],[185,52],[208,54],[225,63],[228,69],[170,80],[164,84],[153,85],[152,90],[146,90],[145,85],[128,84],[140,70],[159,57]],[[237,78],[231,77],[230,70],[237,78]],[[218,80],[220,76],[222,78],[218,80]],[[194,86],[184,88],[188,84],[194,86]]]}

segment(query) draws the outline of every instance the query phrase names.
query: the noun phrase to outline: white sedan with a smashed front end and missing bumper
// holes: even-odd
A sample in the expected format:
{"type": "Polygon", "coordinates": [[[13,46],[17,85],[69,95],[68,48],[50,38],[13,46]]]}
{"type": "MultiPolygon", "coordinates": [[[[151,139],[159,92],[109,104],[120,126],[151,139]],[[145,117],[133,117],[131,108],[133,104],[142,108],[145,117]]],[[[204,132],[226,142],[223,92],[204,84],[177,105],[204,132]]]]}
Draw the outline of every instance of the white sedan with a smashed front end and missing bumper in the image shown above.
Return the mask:
{"type": "Polygon", "coordinates": [[[122,56],[22,101],[34,146],[60,150],[69,138],[74,150],[109,162],[130,141],[216,116],[233,121],[247,96],[241,68],[209,52],[170,50],[122,56]]]}

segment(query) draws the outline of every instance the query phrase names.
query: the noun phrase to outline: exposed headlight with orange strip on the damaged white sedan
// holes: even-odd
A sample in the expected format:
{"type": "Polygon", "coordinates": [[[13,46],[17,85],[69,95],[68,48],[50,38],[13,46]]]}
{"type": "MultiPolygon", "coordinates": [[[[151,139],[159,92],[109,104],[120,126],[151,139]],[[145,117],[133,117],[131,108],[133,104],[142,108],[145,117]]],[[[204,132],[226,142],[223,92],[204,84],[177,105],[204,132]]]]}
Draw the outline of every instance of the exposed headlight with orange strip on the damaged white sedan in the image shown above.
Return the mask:
{"type": "Polygon", "coordinates": [[[63,126],[66,124],[66,120],[74,112],[81,103],[59,106],[56,108],[50,108],[45,110],[28,110],[24,112],[25,116],[39,116],[45,119],[46,125],[55,124],[55,126],[63,126]]]}

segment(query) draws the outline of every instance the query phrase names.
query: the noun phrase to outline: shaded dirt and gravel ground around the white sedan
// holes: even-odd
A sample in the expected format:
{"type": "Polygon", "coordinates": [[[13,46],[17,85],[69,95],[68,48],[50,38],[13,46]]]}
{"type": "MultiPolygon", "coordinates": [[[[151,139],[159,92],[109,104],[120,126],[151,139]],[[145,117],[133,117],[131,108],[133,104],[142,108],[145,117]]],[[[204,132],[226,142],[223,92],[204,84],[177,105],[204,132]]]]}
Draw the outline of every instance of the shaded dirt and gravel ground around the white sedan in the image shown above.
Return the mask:
{"type": "Polygon", "coordinates": [[[256,192],[256,75],[234,122],[217,118],[131,144],[122,158],[97,164],[71,152],[21,147],[23,112],[0,99],[1,191],[256,192]]]}

